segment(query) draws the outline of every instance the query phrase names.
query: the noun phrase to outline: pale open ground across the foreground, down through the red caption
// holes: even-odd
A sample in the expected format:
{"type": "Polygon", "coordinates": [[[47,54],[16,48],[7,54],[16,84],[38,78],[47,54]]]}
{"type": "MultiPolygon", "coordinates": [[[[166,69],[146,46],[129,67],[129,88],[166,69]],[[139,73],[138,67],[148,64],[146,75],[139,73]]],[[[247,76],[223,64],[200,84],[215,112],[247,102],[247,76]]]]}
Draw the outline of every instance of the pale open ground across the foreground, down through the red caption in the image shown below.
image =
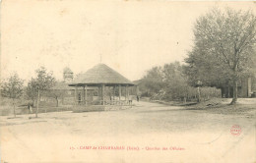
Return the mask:
{"type": "MultiPolygon", "coordinates": [[[[230,99],[229,99],[230,100],[230,99]]],[[[6,162],[255,162],[256,100],[1,117],[6,162]],[[238,135],[232,126],[241,129],[238,135]],[[95,147],[95,149],[94,149],[95,147]]]]}

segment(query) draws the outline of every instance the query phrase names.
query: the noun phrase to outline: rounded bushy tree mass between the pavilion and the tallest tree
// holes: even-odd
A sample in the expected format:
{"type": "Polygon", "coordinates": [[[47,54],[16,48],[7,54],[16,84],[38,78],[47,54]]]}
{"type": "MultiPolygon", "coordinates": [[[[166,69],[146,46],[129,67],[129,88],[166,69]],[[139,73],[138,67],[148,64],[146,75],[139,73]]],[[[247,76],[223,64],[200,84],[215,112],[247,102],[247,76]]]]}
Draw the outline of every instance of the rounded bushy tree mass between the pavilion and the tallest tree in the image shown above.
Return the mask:
{"type": "Polygon", "coordinates": [[[179,62],[154,67],[142,79],[140,88],[153,99],[184,100],[190,96],[187,79],[179,62]]]}

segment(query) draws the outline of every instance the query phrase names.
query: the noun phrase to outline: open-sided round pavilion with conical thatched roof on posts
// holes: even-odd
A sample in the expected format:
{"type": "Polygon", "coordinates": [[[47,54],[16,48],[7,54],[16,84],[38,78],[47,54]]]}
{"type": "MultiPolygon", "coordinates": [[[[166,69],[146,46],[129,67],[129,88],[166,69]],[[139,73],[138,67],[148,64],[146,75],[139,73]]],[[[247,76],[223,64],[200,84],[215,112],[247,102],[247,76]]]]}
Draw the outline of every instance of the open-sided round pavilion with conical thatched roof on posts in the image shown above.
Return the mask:
{"type": "MultiPolygon", "coordinates": [[[[98,64],[85,74],[79,75],[69,86],[75,86],[75,105],[89,108],[89,106],[101,106],[102,110],[112,109],[115,106],[125,106],[129,104],[129,87],[133,86],[132,81],[127,80],[122,75],[112,70],[104,64],[98,64]],[[96,94],[89,100],[87,87],[97,87],[96,94]],[[82,102],[79,101],[77,90],[83,87],[82,102]],[[118,93],[116,89],[118,88],[118,93]],[[122,92],[124,91],[122,96],[122,92]],[[95,96],[96,95],[96,96],[95,96]],[[117,95],[117,96],[116,96],[117,95]]],[[[91,107],[92,108],[92,107],[91,107]]],[[[98,107],[97,107],[98,108],[98,107]]],[[[86,109],[87,110],[87,109],[86,109]]]]}

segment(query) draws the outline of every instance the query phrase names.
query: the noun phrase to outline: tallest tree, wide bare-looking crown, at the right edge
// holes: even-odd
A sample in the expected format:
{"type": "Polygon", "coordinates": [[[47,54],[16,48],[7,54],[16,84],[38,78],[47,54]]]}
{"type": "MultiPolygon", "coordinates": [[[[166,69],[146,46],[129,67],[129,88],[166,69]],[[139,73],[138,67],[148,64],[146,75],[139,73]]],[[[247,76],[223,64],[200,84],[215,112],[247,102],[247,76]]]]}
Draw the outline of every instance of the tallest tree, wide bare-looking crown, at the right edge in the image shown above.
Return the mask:
{"type": "MultiPolygon", "coordinates": [[[[213,59],[212,61],[218,65],[214,67],[214,63],[211,64],[211,68],[214,68],[214,77],[224,71],[230,78],[233,87],[231,104],[237,101],[238,79],[252,68],[250,58],[255,55],[255,26],[256,17],[251,11],[227,8],[224,12],[213,9],[200,17],[194,27],[195,46],[192,54],[201,56],[201,59],[205,58],[202,60],[203,63],[213,59]]],[[[204,69],[206,73],[211,71],[206,67],[204,69]]]]}

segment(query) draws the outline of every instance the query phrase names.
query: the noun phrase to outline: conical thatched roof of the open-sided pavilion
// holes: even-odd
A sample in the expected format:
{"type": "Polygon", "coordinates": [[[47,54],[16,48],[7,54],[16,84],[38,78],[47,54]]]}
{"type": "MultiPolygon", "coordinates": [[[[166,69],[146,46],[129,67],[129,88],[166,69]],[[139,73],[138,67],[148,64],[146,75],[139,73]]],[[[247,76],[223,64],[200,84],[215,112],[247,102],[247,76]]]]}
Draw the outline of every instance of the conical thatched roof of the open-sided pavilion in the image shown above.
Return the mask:
{"type": "Polygon", "coordinates": [[[98,84],[105,85],[134,85],[132,81],[127,80],[125,77],[112,70],[105,64],[98,64],[94,68],[87,71],[85,74],[79,75],[69,85],[83,85],[96,86],[98,84]]]}

